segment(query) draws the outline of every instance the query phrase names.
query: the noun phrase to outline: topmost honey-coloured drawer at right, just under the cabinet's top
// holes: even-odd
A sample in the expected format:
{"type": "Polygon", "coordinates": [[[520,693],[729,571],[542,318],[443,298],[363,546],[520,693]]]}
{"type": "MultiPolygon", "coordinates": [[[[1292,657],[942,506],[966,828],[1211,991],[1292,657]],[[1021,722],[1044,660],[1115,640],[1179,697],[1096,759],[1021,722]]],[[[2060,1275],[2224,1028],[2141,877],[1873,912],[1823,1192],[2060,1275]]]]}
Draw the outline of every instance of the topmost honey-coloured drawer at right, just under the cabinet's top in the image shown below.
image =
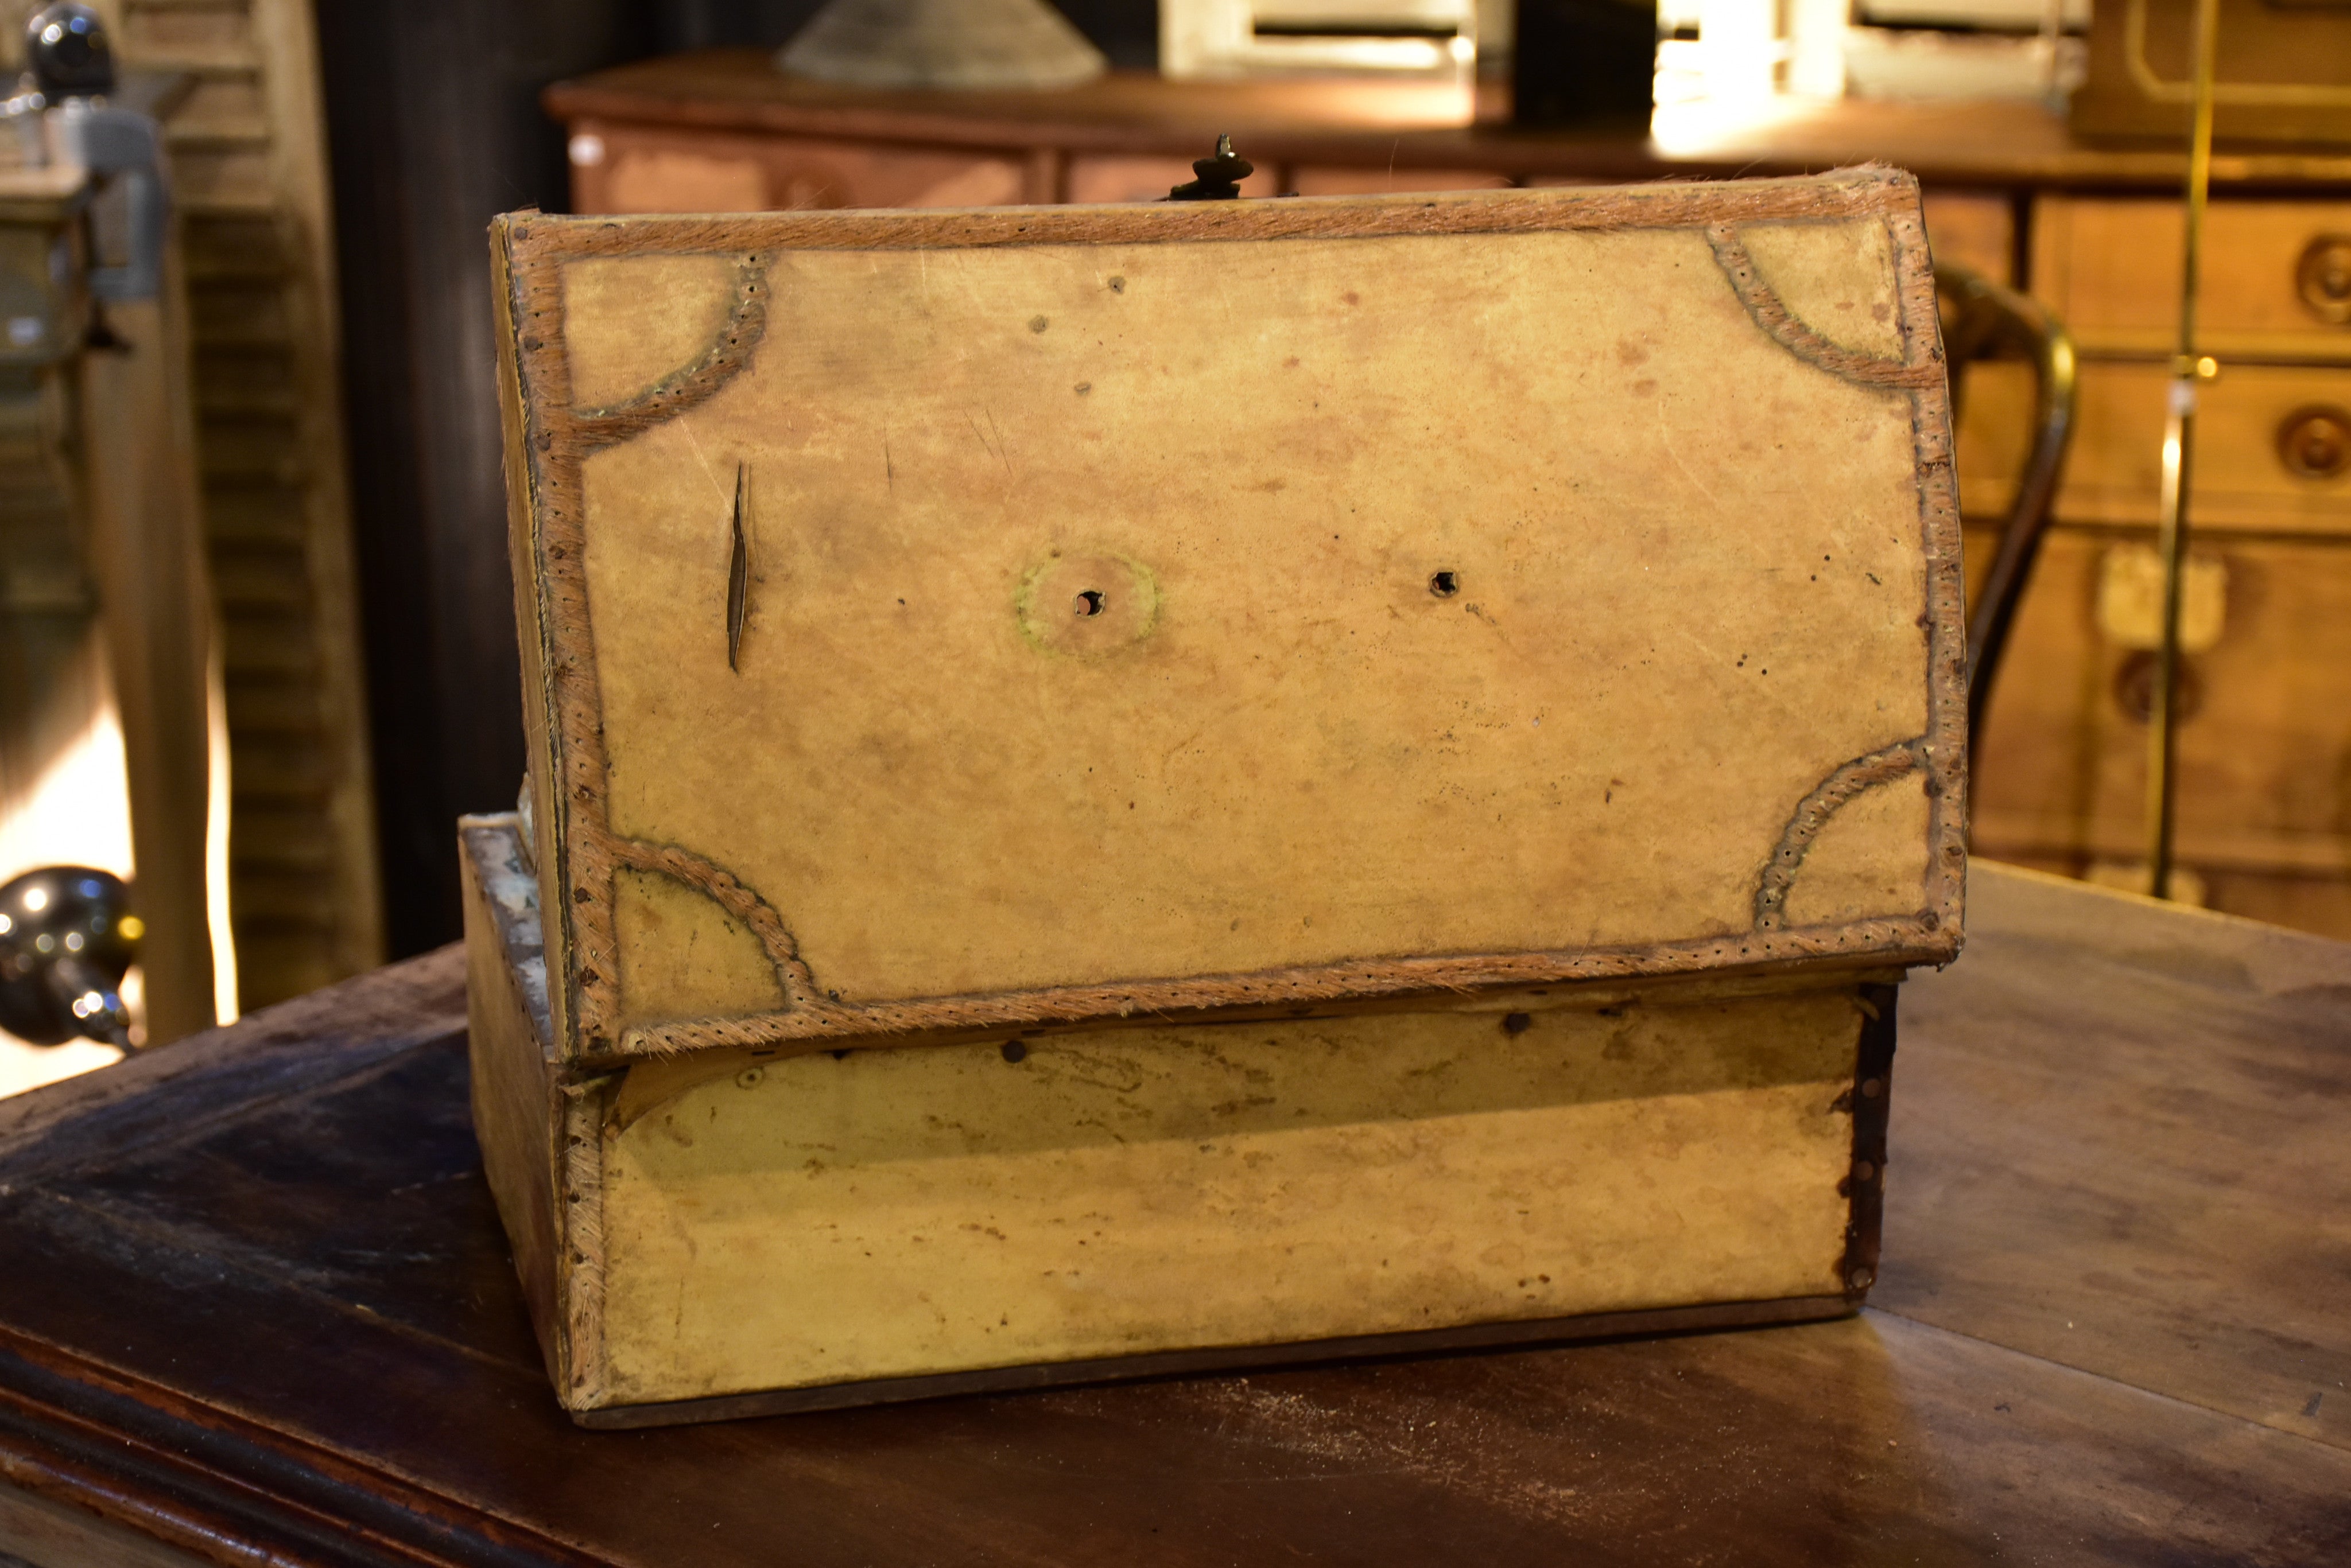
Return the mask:
{"type": "MultiPolygon", "coordinates": [[[[2168,353],[2182,235],[2172,200],[2041,197],[2031,289],[2083,348],[2168,353]]],[[[2351,202],[2215,202],[2201,331],[2212,353],[2351,353],[2351,202]]]]}

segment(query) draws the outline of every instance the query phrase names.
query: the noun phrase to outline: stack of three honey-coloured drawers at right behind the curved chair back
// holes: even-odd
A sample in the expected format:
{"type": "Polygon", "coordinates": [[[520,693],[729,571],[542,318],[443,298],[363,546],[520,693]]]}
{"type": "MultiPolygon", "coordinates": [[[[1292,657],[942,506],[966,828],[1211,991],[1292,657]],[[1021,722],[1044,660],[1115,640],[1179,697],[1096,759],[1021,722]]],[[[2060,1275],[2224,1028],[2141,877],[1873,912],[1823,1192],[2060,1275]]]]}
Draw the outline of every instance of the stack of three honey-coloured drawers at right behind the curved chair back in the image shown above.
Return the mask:
{"type": "MultiPolygon", "coordinates": [[[[2081,416],[1984,731],[1975,844],[2128,884],[2182,209],[2041,195],[2022,249],[2081,346],[2081,416]]],[[[2351,936],[2351,205],[2215,202],[2201,322],[2219,374],[2193,454],[2179,856],[2212,907],[2351,936]]],[[[2022,367],[1970,371],[1972,522],[2008,505],[2029,390],[2022,367]]]]}

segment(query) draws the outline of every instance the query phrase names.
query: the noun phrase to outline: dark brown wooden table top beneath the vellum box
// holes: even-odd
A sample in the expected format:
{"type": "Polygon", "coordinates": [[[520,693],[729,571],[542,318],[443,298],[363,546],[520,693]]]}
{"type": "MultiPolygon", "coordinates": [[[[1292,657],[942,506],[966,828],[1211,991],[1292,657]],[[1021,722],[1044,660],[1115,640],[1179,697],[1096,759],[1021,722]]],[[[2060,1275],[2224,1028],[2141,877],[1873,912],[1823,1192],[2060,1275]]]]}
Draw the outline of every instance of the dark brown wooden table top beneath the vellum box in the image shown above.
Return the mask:
{"type": "Polygon", "coordinates": [[[444,950],[0,1103],[33,1563],[2344,1563],[2351,945],[1994,865],[1848,1321],[557,1410],[444,950]]]}

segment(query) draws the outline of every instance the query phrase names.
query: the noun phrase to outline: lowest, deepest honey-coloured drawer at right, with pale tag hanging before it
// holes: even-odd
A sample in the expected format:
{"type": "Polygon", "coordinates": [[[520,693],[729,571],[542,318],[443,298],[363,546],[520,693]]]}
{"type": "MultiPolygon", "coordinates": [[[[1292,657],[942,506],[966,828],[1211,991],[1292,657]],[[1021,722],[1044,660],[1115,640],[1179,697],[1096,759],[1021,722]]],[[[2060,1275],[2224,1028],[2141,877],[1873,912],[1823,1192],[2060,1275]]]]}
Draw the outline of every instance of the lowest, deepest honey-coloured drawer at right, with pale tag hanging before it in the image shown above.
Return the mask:
{"type": "MultiPolygon", "coordinates": [[[[2109,550],[2146,541],[2050,536],[1980,741],[1980,853],[2074,870],[2144,856],[2154,654],[2104,630],[2099,576],[2109,550]]],[[[1989,545],[1970,531],[1970,555],[1989,545]]],[[[2351,889],[2351,545],[2226,541],[2198,559],[2224,588],[2217,637],[2186,661],[2179,856],[2222,907],[2245,877],[2351,889]]]]}

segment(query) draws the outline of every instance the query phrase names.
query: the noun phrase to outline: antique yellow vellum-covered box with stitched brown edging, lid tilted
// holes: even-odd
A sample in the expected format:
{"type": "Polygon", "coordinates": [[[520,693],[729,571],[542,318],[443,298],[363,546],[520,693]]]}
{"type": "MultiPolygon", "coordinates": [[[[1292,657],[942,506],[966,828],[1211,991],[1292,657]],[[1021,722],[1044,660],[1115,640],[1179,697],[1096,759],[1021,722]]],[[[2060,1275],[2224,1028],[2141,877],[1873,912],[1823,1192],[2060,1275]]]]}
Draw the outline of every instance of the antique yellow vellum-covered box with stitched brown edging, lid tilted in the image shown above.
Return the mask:
{"type": "Polygon", "coordinates": [[[1860,1300],[1963,879],[1907,176],[494,254],[578,1420],[1860,1300]]]}

